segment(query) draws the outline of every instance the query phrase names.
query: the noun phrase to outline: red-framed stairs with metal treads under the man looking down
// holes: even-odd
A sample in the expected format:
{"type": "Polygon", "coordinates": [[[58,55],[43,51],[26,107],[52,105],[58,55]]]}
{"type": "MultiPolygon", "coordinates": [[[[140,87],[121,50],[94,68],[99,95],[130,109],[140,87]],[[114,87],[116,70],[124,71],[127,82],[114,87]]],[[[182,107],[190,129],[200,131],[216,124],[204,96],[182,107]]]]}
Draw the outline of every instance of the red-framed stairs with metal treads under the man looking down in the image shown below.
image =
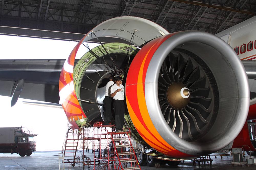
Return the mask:
{"type": "Polygon", "coordinates": [[[110,133],[114,157],[119,163],[114,165],[114,169],[141,169],[131,143],[131,132],[110,133]]]}

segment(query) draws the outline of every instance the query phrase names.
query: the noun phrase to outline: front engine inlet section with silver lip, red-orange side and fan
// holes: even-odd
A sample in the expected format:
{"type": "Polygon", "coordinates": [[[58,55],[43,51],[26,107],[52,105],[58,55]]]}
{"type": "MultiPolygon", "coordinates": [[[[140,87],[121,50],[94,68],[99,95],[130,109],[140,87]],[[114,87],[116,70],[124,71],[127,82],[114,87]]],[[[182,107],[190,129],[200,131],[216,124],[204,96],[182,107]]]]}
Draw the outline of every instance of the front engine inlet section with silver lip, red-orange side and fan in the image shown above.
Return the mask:
{"type": "Polygon", "coordinates": [[[126,79],[127,108],[138,133],[175,158],[227,146],[246,121],[249,100],[248,79],[236,53],[200,31],[150,41],[136,54],[126,79]]]}

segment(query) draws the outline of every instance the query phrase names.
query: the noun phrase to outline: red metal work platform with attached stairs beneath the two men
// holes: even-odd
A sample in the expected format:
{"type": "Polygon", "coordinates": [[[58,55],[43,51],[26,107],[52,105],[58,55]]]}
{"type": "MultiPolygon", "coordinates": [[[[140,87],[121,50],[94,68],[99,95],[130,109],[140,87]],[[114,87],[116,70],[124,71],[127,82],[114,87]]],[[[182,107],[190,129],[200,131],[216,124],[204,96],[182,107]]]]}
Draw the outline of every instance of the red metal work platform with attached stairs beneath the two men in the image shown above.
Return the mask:
{"type": "Polygon", "coordinates": [[[132,147],[130,133],[130,129],[116,133],[113,125],[105,126],[101,122],[94,123],[93,169],[141,169],[132,147]]]}

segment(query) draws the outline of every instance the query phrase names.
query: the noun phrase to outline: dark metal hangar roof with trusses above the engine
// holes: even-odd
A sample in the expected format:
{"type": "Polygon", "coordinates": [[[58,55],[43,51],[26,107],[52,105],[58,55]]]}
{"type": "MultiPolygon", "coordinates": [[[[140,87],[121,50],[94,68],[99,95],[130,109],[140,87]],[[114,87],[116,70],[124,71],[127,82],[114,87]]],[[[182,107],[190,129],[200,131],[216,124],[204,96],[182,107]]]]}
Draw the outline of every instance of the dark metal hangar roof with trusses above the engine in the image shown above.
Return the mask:
{"type": "Polygon", "coordinates": [[[0,0],[0,26],[81,34],[118,16],[142,17],[169,32],[216,34],[255,14],[252,0],[0,0]]]}

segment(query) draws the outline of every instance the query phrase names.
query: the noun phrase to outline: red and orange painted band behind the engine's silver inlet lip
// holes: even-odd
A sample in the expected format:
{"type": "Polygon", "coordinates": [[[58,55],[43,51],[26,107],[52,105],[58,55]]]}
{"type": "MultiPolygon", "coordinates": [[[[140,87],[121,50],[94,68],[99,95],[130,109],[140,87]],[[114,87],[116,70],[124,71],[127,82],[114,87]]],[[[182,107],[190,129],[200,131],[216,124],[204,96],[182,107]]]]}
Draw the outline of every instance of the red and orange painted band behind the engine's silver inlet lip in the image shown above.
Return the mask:
{"type": "Polygon", "coordinates": [[[158,47],[170,36],[158,37],[146,44],[133,59],[126,79],[126,104],[132,122],[141,137],[152,148],[173,157],[193,157],[173,148],[157,132],[147,111],[145,101],[145,77],[148,64],[158,47]]]}

